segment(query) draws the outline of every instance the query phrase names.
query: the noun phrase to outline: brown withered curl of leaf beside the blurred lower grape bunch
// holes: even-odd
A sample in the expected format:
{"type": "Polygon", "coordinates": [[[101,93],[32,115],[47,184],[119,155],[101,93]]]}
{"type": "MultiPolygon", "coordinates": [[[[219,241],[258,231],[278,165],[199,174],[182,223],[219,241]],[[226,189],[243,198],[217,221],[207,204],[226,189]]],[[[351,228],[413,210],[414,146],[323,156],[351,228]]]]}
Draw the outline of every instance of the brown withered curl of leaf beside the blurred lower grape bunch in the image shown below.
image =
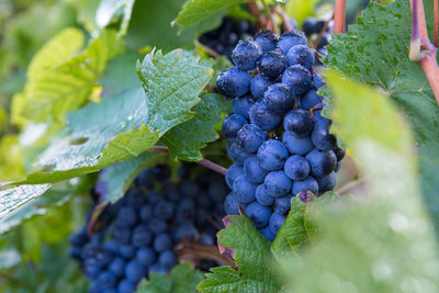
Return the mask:
{"type": "Polygon", "coordinates": [[[179,256],[180,261],[198,263],[200,260],[210,259],[236,268],[235,262],[228,256],[221,255],[216,246],[202,245],[185,238],[173,250],[179,256]]]}

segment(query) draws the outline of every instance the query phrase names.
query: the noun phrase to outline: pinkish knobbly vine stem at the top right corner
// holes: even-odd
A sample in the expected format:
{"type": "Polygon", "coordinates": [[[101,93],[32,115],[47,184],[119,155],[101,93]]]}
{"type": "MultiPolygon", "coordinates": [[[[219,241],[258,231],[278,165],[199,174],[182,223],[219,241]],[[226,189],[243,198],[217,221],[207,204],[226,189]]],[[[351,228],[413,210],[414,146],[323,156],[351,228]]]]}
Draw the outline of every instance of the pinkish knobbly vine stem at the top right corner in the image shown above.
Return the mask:
{"type": "Polygon", "coordinates": [[[439,67],[436,60],[438,49],[428,38],[423,1],[410,0],[410,9],[413,27],[408,56],[410,60],[419,61],[435,94],[436,102],[439,103],[439,67]]]}

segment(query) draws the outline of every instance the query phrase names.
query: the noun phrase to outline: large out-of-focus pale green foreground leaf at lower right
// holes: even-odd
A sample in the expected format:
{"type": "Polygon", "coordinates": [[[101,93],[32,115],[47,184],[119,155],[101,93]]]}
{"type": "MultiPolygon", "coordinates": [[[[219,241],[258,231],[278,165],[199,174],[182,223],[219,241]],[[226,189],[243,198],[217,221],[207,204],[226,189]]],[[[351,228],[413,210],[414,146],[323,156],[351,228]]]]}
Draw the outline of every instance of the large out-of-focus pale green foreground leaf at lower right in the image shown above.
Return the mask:
{"type": "Polygon", "coordinates": [[[335,94],[337,133],[360,158],[367,189],[316,214],[325,237],[285,263],[290,292],[438,292],[439,250],[421,202],[407,124],[372,88],[335,72],[327,82],[335,94]],[[361,115],[352,109],[361,109],[361,115]],[[386,140],[384,132],[374,131],[379,126],[387,131],[386,140]]]}

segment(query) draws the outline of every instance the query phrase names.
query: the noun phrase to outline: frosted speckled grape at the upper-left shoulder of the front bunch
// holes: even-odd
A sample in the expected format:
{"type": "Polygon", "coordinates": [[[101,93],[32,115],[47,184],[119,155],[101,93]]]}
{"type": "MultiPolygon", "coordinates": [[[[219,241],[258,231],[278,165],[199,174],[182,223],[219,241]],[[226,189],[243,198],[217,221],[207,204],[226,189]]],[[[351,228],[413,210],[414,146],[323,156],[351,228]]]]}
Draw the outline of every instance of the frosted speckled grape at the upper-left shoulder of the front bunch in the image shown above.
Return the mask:
{"type": "Polygon", "coordinates": [[[255,41],[241,40],[232,53],[232,60],[241,70],[254,70],[262,55],[262,49],[255,41]]]}

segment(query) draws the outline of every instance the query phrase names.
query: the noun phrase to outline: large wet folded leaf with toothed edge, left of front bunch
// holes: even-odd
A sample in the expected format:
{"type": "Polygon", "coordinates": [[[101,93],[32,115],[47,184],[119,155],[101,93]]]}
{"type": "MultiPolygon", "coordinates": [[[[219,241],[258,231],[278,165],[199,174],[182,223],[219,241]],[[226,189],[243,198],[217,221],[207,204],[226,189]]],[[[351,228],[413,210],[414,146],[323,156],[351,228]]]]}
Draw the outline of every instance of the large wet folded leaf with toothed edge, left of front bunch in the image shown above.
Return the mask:
{"type": "Polygon", "coordinates": [[[198,94],[209,82],[211,68],[180,49],[165,56],[151,53],[138,65],[145,94],[134,63],[127,61],[132,58],[123,56],[110,64],[110,74],[100,83],[103,94],[112,95],[70,112],[66,133],[36,164],[40,170],[19,183],[57,182],[136,157],[193,116],[191,108],[200,102],[198,94]],[[119,68],[117,74],[113,68],[119,68]]]}

